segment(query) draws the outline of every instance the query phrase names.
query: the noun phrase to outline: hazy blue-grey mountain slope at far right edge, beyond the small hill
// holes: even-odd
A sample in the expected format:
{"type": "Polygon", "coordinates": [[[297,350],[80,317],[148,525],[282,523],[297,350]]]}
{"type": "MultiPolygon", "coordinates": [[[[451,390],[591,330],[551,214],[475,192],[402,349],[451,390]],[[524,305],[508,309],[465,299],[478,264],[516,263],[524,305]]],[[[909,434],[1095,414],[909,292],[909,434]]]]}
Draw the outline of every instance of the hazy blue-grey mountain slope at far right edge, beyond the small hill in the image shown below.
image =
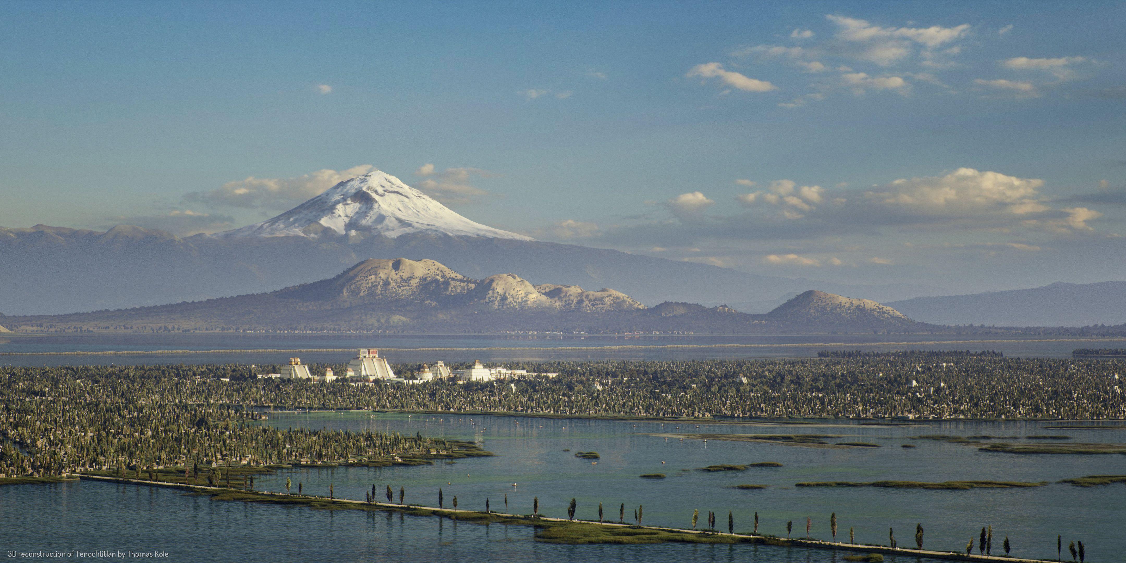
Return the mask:
{"type": "Polygon", "coordinates": [[[1126,282],[1056,283],[1031,289],[915,297],[885,304],[935,324],[1118,325],[1126,322],[1126,282]]]}

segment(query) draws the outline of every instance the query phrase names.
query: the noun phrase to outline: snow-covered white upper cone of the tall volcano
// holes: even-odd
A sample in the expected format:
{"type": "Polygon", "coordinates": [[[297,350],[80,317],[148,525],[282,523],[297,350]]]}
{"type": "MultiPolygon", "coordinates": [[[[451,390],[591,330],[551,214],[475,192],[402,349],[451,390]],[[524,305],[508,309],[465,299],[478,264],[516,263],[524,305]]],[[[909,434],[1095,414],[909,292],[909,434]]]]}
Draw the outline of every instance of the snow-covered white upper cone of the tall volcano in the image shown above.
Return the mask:
{"type": "Polygon", "coordinates": [[[432,232],[530,241],[530,236],[470,221],[399,178],[374,170],[345,180],[274,218],[215,236],[378,235],[432,232]]]}

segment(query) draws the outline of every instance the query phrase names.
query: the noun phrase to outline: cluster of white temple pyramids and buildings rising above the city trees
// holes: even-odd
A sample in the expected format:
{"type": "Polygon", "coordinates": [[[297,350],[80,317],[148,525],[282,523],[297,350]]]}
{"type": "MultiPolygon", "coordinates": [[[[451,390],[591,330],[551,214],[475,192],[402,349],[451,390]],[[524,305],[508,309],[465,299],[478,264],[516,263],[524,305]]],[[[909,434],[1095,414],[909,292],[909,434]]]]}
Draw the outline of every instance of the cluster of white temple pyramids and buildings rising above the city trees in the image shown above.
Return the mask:
{"type": "Polygon", "coordinates": [[[343,383],[428,383],[434,381],[449,381],[454,383],[465,382],[493,382],[498,379],[510,379],[521,377],[555,377],[558,374],[534,374],[526,369],[509,369],[507,367],[485,367],[480,360],[473,363],[473,367],[466,369],[449,369],[444,361],[438,360],[432,366],[423,364],[422,369],[411,374],[411,377],[396,377],[391,364],[386,358],[379,357],[379,350],[375,348],[360,348],[342,375],[337,375],[332,368],[325,368],[323,374],[313,375],[309,366],[301,363],[301,358],[289,358],[289,364],[282,366],[278,374],[258,374],[259,378],[272,377],[279,379],[307,379],[312,382],[343,382],[343,383]]]}

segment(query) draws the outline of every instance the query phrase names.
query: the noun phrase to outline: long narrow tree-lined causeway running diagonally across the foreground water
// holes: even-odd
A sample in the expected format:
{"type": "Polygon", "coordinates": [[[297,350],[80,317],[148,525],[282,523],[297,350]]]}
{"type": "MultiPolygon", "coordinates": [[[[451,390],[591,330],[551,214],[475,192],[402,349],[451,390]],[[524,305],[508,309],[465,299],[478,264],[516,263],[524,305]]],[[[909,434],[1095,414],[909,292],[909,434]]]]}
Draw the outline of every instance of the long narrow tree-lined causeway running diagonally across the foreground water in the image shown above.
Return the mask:
{"type": "MultiPolygon", "coordinates": [[[[774,545],[779,547],[807,547],[814,549],[832,549],[832,551],[844,551],[844,552],[866,552],[866,553],[878,553],[886,555],[901,555],[911,557],[929,557],[936,560],[947,560],[947,561],[997,561],[997,562],[1011,562],[1011,563],[1044,563],[1053,560],[1037,560],[1037,558],[1024,558],[1024,557],[1008,557],[1000,555],[992,556],[981,556],[981,555],[966,555],[958,552],[939,552],[930,549],[911,549],[906,547],[888,547],[888,546],[877,546],[877,545],[864,545],[864,544],[846,544],[841,542],[825,542],[820,539],[804,539],[804,538],[781,538],[775,536],[761,536],[754,534],[723,534],[712,530],[697,530],[697,529],[682,529],[682,528],[670,528],[664,526],[643,526],[643,525],[632,525],[624,522],[598,522],[592,520],[569,520],[565,518],[552,518],[546,516],[527,516],[527,515],[510,515],[503,512],[481,512],[477,510],[459,510],[459,509],[447,509],[437,507],[425,507],[419,504],[394,504],[386,502],[366,502],[351,499],[329,499],[325,497],[313,497],[307,494],[292,494],[292,493],[278,493],[268,491],[243,491],[239,489],[230,489],[222,486],[205,486],[205,485],[188,485],[181,483],[167,483],[162,481],[146,481],[146,480],[134,480],[134,479],[119,479],[119,477],[106,477],[100,475],[88,475],[83,473],[74,474],[80,480],[88,481],[100,481],[109,483],[120,483],[120,484],[135,484],[135,485],[148,485],[148,486],[162,486],[167,489],[178,489],[184,491],[190,491],[195,493],[211,494],[212,497],[218,497],[225,493],[233,493],[239,495],[245,495],[250,498],[242,499],[230,499],[230,500],[241,500],[243,502],[267,502],[275,504],[307,504],[311,506],[313,502],[321,503],[342,503],[351,509],[359,510],[383,510],[402,512],[410,516],[437,516],[439,518],[450,518],[454,520],[466,520],[467,522],[480,522],[480,524],[507,524],[507,525],[524,525],[524,526],[537,526],[538,524],[556,524],[556,525],[570,525],[570,526],[596,526],[604,529],[643,529],[652,530],[655,533],[665,534],[677,534],[683,535],[686,537],[698,537],[699,543],[748,543],[748,544],[759,544],[759,545],[774,545]],[[458,518],[464,516],[467,518],[458,518]],[[715,542],[709,542],[714,539],[715,542]],[[727,540],[730,539],[730,542],[727,540]]],[[[318,507],[312,507],[318,508],[318,507]]],[[[537,526],[539,527],[539,526],[537,526]]],[[[536,539],[543,539],[537,536],[536,539]]],[[[549,540],[549,539],[548,539],[549,540]]],[[[665,539],[664,542],[677,542],[676,539],[665,539]]],[[[662,543],[664,543],[662,542],[662,543]]],[[[568,543],[568,542],[562,542],[568,543]]],[[[587,544],[580,544],[587,545],[587,544]]]]}

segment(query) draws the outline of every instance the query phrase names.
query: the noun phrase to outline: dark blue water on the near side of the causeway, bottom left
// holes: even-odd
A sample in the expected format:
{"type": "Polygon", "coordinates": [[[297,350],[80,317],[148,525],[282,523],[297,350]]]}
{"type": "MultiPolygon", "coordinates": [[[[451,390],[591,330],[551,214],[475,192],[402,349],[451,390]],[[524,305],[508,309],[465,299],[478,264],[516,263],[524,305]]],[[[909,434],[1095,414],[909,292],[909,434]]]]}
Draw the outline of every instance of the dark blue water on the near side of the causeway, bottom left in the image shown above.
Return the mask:
{"type": "Polygon", "coordinates": [[[220,502],[168,489],[89,481],[0,488],[0,549],[5,554],[9,549],[159,549],[168,556],[145,561],[238,563],[843,563],[842,555],[832,552],[768,546],[545,544],[531,539],[533,528],[527,526],[220,502]]]}

